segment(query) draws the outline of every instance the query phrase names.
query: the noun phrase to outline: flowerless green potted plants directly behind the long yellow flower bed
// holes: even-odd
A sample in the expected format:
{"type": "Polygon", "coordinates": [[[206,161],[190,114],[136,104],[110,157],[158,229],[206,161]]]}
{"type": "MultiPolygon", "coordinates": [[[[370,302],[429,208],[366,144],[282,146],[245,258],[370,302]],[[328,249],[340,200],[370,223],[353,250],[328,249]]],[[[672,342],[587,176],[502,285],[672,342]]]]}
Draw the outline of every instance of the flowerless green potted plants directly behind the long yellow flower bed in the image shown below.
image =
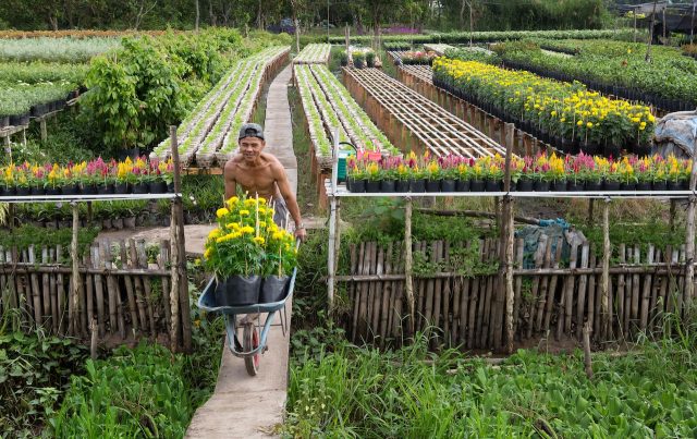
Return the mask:
{"type": "Polygon", "coordinates": [[[656,47],[651,62],[646,47],[623,41],[531,40],[494,48],[506,65],[560,81],[579,81],[590,88],[667,111],[692,110],[697,105],[697,65],[672,47],[656,47]],[[541,49],[575,52],[557,57],[541,49]]]}

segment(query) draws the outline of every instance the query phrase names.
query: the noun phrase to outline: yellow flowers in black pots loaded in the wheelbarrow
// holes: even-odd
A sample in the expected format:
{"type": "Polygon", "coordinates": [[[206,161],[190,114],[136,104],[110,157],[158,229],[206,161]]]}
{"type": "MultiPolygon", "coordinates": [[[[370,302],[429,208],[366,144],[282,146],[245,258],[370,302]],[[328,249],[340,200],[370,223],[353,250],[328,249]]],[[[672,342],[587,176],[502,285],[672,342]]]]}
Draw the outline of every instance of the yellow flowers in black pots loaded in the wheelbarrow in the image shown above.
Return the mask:
{"type": "Polygon", "coordinates": [[[218,228],[206,241],[204,264],[216,276],[218,304],[241,306],[283,298],[296,249],[293,235],[273,222],[273,207],[264,198],[233,196],[216,216],[218,228]]]}

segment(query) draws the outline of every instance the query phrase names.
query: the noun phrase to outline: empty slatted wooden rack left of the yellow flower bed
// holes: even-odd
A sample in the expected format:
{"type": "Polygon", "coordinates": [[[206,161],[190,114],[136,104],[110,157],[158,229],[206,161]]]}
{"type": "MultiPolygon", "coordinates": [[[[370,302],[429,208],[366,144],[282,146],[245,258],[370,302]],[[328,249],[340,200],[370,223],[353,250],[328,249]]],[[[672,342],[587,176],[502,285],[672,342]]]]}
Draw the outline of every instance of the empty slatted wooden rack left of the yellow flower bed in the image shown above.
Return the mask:
{"type": "Polygon", "coordinates": [[[346,88],[400,149],[428,148],[437,157],[505,155],[503,146],[378,69],[343,71],[346,88]]]}

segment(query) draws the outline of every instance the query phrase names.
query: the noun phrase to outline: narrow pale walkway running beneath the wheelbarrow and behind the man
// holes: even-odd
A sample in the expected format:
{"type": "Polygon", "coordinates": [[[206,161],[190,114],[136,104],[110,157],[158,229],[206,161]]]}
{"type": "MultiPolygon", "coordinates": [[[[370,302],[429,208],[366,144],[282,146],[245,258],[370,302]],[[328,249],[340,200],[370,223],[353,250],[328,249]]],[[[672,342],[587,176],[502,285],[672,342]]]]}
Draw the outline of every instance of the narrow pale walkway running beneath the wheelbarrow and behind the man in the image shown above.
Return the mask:
{"type": "MultiPolygon", "coordinates": [[[[271,83],[267,97],[265,136],[267,151],[276,155],[297,190],[297,164],[293,153],[291,109],[288,84],[291,66],[271,83]]],[[[292,303],[286,304],[289,325],[292,303]]],[[[261,320],[266,317],[261,316],[261,320]]],[[[276,324],[278,324],[278,316],[276,324]]],[[[225,341],[227,343],[227,341],[225,341]]],[[[216,392],[196,411],[187,438],[268,438],[283,422],[289,375],[290,334],[276,326],[269,331],[269,350],[261,357],[256,377],[247,375],[244,361],[234,357],[227,344],[223,351],[216,392]]]]}

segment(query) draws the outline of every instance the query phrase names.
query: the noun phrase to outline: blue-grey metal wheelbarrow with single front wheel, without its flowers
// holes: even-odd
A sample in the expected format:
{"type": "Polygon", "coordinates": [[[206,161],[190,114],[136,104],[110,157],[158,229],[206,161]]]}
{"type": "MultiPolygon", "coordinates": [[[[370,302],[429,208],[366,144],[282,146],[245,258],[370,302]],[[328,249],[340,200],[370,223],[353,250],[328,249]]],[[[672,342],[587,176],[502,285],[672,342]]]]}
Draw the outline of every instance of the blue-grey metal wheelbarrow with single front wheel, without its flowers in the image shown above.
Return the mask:
{"type": "Polygon", "coordinates": [[[209,313],[221,313],[225,316],[225,331],[228,333],[228,345],[230,352],[240,358],[244,358],[244,365],[247,369],[247,374],[250,376],[257,375],[259,371],[259,362],[261,354],[267,350],[267,337],[271,322],[276,313],[279,312],[281,319],[281,330],[283,336],[288,330],[288,315],[285,312],[285,302],[293,295],[293,289],[295,288],[295,276],[297,275],[297,268],[293,269],[293,275],[289,281],[288,292],[285,297],[279,302],[260,303],[255,305],[244,306],[218,306],[216,302],[216,280],[211,279],[208,282],[206,289],[198,297],[198,307],[209,313]],[[237,315],[247,314],[261,314],[266,313],[266,321],[264,326],[260,324],[260,318],[245,318],[237,324],[237,315]],[[259,328],[261,332],[259,333],[259,328]],[[242,343],[237,338],[237,333],[242,329],[242,343]]]}

